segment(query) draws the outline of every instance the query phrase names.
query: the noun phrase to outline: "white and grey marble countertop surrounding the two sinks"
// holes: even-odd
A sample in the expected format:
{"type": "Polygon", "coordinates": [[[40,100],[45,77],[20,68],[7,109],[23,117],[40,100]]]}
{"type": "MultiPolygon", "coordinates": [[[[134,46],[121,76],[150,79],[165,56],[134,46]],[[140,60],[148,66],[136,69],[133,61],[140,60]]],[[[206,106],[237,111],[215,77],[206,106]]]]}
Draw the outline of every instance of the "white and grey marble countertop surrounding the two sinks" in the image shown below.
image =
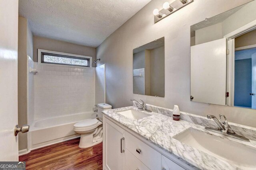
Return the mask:
{"type": "Polygon", "coordinates": [[[181,158],[186,164],[194,168],[204,169],[204,170],[242,169],[241,167],[236,166],[236,164],[232,162],[228,162],[218,157],[207,154],[206,152],[190,147],[173,138],[175,135],[178,135],[179,133],[185,131],[186,129],[189,129],[189,128],[198,129],[210,135],[217,135],[221,138],[225,138],[230,141],[234,140],[244,145],[256,147],[255,141],[252,141],[252,140],[250,142],[238,141],[236,139],[226,137],[221,134],[219,135],[216,133],[212,133],[210,131],[206,131],[204,127],[201,125],[196,125],[194,123],[190,123],[188,121],[183,121],[183,120],[174,121],[170,116],[155,113],[155,112],[151,112],[151,113],[146,112],[148,114],[151,114],[151,116],[144,117],[138,120],[133,120],[117,113],[118,111],[124,111],[128,109],[135,109],[135,110],[141,111],[137,107],[129,106],[129,107],[122,107],[118,109],[106,110],[106,111],[103,111],[103,113],[107,117],[114,119],[121,125],[134,131],[141,137],[144,137],[144,139],[152,142],[154,145],[170,152],[170,154],[176,156],[177,158],[181,158]]]}

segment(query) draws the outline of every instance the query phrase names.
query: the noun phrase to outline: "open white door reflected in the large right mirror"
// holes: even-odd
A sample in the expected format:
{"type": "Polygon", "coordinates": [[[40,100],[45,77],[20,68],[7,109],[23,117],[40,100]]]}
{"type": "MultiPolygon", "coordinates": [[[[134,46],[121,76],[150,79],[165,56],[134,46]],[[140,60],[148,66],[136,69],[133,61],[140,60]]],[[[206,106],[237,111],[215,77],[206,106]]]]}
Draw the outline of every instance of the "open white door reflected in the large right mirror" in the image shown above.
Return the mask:
{"type": "Polygon", "coordinates": [[[191,47],[194,102],[226,105],[226,38],[191,47]]]}

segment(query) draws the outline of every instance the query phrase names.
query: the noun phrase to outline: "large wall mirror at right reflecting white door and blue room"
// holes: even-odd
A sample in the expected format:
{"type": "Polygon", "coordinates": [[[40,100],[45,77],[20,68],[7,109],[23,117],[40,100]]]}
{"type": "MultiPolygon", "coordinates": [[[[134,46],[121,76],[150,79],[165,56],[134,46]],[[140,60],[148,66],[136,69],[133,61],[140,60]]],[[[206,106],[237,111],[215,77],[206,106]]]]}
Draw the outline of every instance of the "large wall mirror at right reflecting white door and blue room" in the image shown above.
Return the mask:
{"type": "Polygon", "coordinates": [[[190,27],[190,99],[256,109],[256,1],[190,27]]]}

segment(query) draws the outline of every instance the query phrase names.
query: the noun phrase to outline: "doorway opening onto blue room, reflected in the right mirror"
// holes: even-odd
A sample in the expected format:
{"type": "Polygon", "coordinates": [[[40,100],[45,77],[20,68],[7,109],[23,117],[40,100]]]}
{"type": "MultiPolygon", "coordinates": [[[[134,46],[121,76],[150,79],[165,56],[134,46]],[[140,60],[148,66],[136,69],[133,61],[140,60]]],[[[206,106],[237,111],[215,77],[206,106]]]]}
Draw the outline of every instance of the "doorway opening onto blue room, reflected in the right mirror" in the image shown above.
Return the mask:
{"type": "Polygon", "coordinates": [[[256,109],[256,29],[235,38],[234,106],[256,109]]]}

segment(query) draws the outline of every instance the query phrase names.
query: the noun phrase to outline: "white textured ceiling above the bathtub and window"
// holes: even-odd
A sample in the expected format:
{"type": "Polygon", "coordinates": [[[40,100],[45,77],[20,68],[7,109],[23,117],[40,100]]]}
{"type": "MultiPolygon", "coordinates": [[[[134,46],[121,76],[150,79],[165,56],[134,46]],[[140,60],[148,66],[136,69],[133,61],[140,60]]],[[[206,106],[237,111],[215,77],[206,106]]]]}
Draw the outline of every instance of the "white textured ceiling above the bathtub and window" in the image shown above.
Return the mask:
{"type": "Polygon", "coordinates": [[[151,0],[19,0],[34,35],[97,47],[151,0]]]}

